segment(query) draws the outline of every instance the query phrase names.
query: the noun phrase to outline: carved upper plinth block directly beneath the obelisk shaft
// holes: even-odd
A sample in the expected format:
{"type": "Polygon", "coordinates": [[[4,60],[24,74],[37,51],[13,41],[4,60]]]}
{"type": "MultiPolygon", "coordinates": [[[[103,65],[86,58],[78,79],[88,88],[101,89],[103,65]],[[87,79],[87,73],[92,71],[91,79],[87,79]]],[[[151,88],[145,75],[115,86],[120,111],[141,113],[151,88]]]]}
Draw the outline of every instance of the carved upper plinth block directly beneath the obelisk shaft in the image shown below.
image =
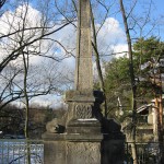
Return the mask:
{"type": "Polygon", "coordinates": [[[94,108],[96,103],[96,106],[98,106],[103,101],[101,101],[102,94],[95,93],[91,90],[69,91],[66,93],[68,104],[67,128],[68,126],[98,127],[99,121],[95,117],[94,108]]]}

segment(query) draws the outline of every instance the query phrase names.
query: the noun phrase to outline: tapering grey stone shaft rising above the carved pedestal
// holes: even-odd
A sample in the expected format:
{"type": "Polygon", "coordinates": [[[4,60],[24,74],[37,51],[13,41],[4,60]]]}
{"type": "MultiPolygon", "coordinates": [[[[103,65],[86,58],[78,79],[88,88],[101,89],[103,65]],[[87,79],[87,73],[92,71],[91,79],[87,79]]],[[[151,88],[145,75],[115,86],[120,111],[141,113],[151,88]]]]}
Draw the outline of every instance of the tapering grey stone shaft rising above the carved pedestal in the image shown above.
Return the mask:
{"type": "Polygon", "coordinates": [[[90,0],[79,0],[75,90],[93,89],[90,0]]]}

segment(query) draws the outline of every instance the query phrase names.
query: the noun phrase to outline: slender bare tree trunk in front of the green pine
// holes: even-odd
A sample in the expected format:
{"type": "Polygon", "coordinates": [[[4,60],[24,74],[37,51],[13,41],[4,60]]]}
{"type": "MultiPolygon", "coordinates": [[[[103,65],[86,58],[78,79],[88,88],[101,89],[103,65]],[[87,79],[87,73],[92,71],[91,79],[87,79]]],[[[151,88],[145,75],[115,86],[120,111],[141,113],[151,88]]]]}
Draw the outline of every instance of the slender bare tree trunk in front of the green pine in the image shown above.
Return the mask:
{"type": "Polygon", "coordinates": [[[137,102],[136,102],[136,82],[134,82],[134,72],[133,72],[133,59],[132,59],[132,43],[130,37],[130,32],[128,27],[128,21],[124,8],[122,0],[119,0],[120,11],[124,20],[126,37],[128,43],[128,54],[129,54],[129,72],[130,72],[130,80],[131,80],[131,90],[132,90],[132,130],[131,130],[131,151],[132,151],[132,159],[133,164],[138,164],[137,157],[137,149],[136,149],[136,124],[137,124],[137,102]]]}

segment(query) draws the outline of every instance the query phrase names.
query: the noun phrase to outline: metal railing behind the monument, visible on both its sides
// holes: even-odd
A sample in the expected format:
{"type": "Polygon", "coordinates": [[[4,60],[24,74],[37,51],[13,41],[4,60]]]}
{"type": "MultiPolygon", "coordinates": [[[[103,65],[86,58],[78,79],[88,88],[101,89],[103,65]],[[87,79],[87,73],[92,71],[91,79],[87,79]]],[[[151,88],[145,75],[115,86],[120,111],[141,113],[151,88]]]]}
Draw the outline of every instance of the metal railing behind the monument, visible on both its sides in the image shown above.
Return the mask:
{"type": "MultiPolygon", "coordinates": [[[[157,142],[136,143],[139,164],[159,162],[157,142]]],[[[44,144],[42,140],[0,140],[0,164],[44,164],[44,144]]],[[[131,142],[125,143],[125,163],[132,164],[131,142]]]]}

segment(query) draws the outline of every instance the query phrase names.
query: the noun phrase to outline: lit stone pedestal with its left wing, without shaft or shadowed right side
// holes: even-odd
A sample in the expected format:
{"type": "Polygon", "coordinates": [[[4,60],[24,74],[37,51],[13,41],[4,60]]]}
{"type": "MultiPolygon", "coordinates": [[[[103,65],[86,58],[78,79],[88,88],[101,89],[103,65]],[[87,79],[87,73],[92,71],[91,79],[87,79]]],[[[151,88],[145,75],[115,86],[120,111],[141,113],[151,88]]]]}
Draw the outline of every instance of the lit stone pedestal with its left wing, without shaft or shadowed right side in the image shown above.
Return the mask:
{"type": "Polygon", "coordinates": [[[93,92],[70,91],[66,99],[69,105],[66,131],[43,134],[44,164],[101,164],[102,126],[94,116],[98,98],[93,92]]]}

